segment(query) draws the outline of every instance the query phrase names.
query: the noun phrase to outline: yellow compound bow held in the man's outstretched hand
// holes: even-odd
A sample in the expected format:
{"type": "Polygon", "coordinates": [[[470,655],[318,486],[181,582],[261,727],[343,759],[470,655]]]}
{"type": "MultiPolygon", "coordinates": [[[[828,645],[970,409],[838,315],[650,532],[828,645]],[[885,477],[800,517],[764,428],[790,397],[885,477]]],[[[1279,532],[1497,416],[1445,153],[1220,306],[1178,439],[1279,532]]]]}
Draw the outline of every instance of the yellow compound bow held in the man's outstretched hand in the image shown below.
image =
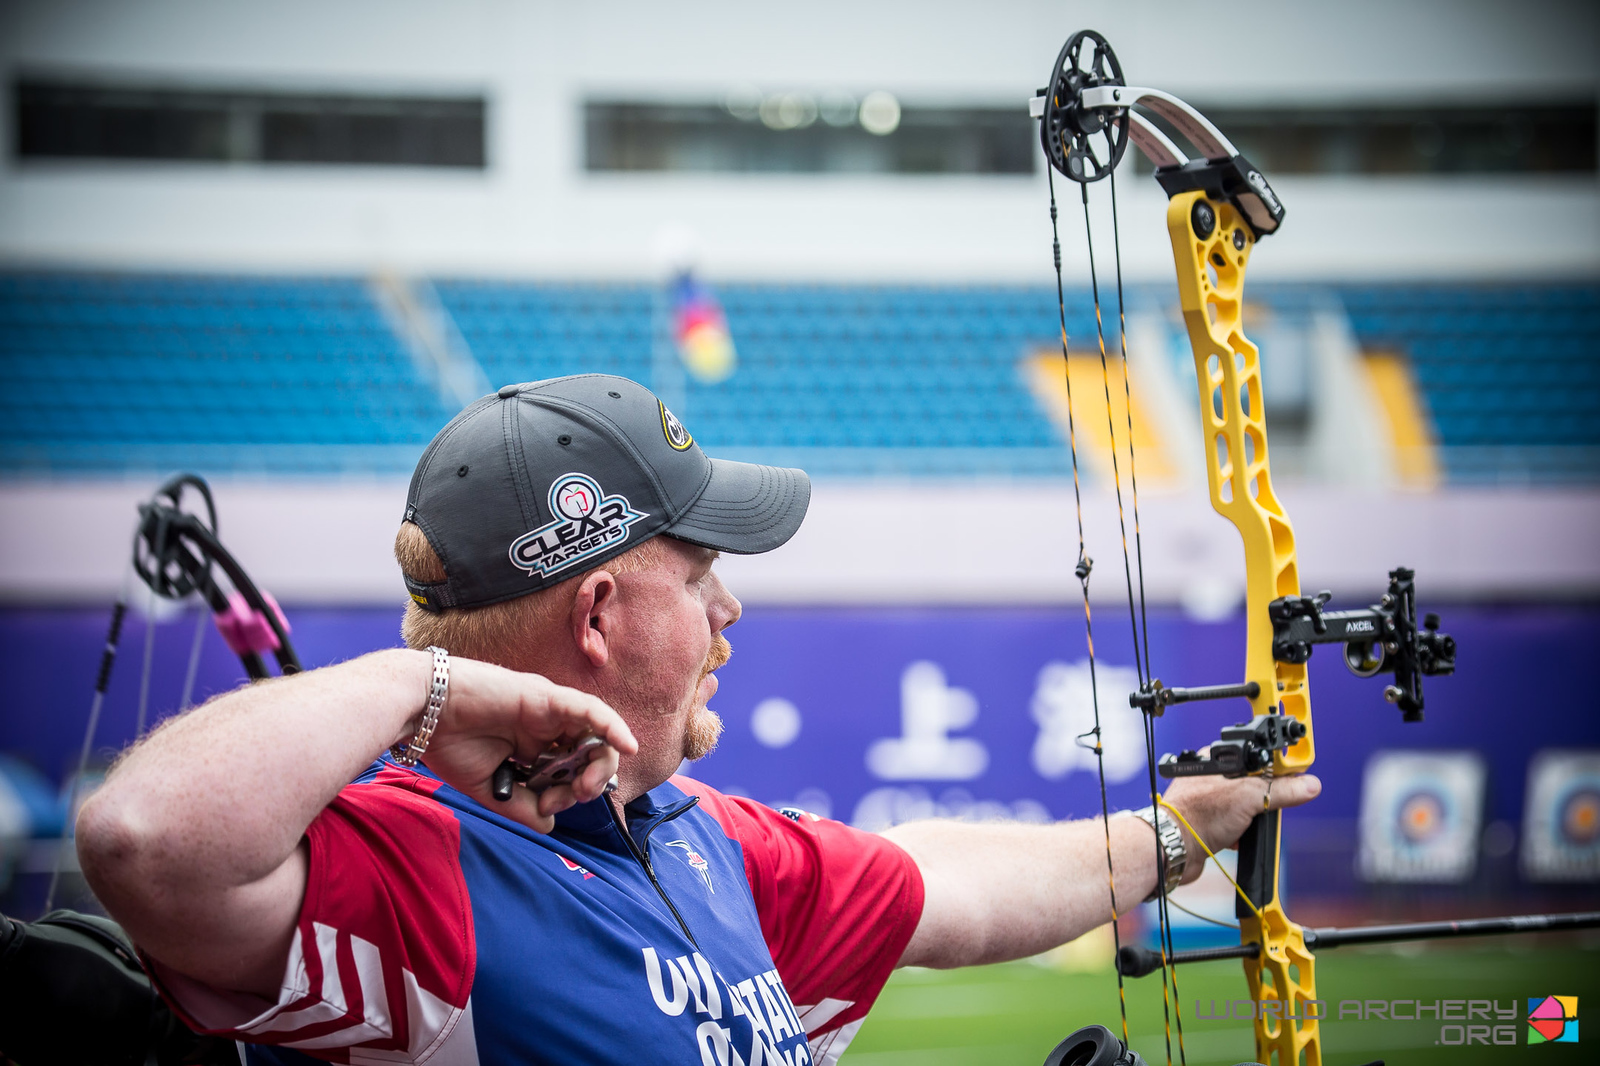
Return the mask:
{"type": "MultiPolygon", "coordinates": [[[[1227,141],[1198,110],[1170,93],[1128,86],[1106,38],[1093,30],[1070,37],[1056,58],[1050,85],[1030,101],[1040,120],[1040,141],[1048,162],[1050,219],[1054,235],[1056,293],[1061,312],[1061,352],[1067,368],[1069,445],[1072,448],[1074,493],[1078,499],[1077,576],[1083,589],[1085,627],[1090,648],[1090,677],[1094,679],[1094,640],[1088,584],[1093,560],[1085,552],[1082,493],[1077,477],[1077,431],[1072,424],[1072,379],[1067,360],[1066,299],[1061,282],[1061,240],[1056,213],[1054,173],[1078,182],[1099,339],[1101,379],[1106,419],[1110,432],[1112,475],[1122,523],[1123,573],[1133,624],[1134,667],[1139,690],[1130,704],[1144,712],[1146,751],[1152,805],[1162,807],[1157,775],[1163,778],[1221,773],[1293,775],[1304,773],[1315,759],[1310,695],[1306,663],[1317,643],[1342,643],[1346,664],[1360,677],[1392,674],[1384,696],[1400,707],[1406,722],[1422,720],[1422,677],[1454,671],[1456,643],[1438,631],[1438,616],[1426,615],[1418,626],[1413,573],[1389,573],[1389,589],[1379,603],[1362,610],[1323,610],[1328,592],[1302,595],[1294,557],[1294,528],[1272,488],[1267,427],[1262,410],[1259,352],[1242,328],[1245,269],[1256,243],[1283,224],[1283,203],[1261,171],[1227,141]],[[1138,109],[1138,110],[1136,110],[1138,109]],[[1149,112],[1149,114],[1146,114],[1149,112]],[[1186,139],[1198,154],[1184,149],[1152,120],[1186,139]],[[1246,571],[1245,680],[1192,688],[1165,687],[1150,672],[1144,639],[1144,575],[1139,531],[1138,474],[1133,456],[1133,403],[1128,381],[1126,330],[1122,341],[1123,392],[1128,400],[1128,482],[1133,503],[1134,552],[1130,557],[1123,512],[1122,469],[1117,426],[1112,418],[1110,373],[1106,330],[1101,315],[1099,282],[1094,267],[1088,187],[1109,179],[1114,242],[1117,238],[1117,176],[1128,142],[1154,163],[1155,179],[1168,195],[1166,230],[1178,267],[1178,293],[1194,349],[1195,378],[1200,386],[1200,413],[1205,432],[1205,467],[1211,506],[1229,519],[1243,539],[1246,571]],[[1138,586],[1138,594],[1136,594],[1138,586]],[[1227,730],[1205,752],[1186,751],[1155,760],[1154,720],[1171,704],[1195,699],[1245,698],[1253,717],[1227,730]]],[[[1117,254],[1118,325],[1123,320],[1122,258],[1117,254]]],[[[1094,695],[1094,728],[1086,746],[1101,754],[1099,696],[1094,695]]],[[[1101,770],[1101,807],[1106,812],[1106,778],[1101,770]]],[[[1168,808],[1171,810],[1171,808],[1168,808]]],[[[1176,812],[1173,812],[1176,813],[1176,812]]],[[[1181,815],[1179,815],[1181,816],[1181,815]]],[[[1485,919],[1480,922],[1430,922],[1350,930],[1307,930],[1290,920],[1278,893],[1282,826],[1278,812],[1254,818],[1238,842],[1240,924],[1237,948],[1174,952],[1165,888],[1157,893],[1158,949],[1117,944],[1117,983],[1123,976],[1144,976],[1157,968],[1163,975],[1163,1007],[1168,1018],[1166,1058],[1173,1061],[1173,1021],[1178,1023],[1179,1061],[1184,1058],[1182,1018],[1178,1010],[1176,964],[1202,959],[1243,959],[1251,997],[1256,1000],[1256,1058],[1278,1066],[1320,1066],[1322,1039],[1317,1002],[1315,957],[1312,948],[1349,943],[1424,940],[1434,936],[1534,932],[1600,925],[1600,914],[1530,916],[1485,919]],[[1168,989],[1171,999],[1168,999],[1168,989]]],[[[1107,829],[1107,872],[1110,834],[1107,829]]],[[[1165,885],[1165,853],[1157,844],[1158,885],[1165,885]]],[[[1115,885],[1112,884],[1115,914],[1115,885]]],[[[1115,930],[1115,922],[1112,925],[1115,930]]],[[[1126,1002],[1122,1000],[1122,1040],[1101,1026],[1080,1029],[1046,1060],[1061,1063],[1125,1063],[1142,1060],[1128,1048],[1126,1002]]]]}

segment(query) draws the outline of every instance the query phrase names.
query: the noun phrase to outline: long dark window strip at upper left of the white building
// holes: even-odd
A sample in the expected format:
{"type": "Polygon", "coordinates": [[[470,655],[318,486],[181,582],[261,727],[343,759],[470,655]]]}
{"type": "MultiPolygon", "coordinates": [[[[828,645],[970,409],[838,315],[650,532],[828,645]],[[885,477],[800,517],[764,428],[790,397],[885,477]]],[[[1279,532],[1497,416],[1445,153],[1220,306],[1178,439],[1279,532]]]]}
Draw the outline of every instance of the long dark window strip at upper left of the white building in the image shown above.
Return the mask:
{"type": "Polygon", "coordinates": [[[13,85],[22,160],[485,165],[483,98],[13,85]]]}

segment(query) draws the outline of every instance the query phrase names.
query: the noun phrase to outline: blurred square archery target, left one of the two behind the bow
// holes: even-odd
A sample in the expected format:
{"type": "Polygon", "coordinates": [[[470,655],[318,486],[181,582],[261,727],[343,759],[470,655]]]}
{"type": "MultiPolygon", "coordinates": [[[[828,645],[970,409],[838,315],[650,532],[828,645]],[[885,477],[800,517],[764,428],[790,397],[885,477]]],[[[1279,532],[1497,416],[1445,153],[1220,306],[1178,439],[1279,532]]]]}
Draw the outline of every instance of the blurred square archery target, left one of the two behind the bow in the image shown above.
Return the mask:
{"type": "Polygon", "coordinates": [[[1483,781],[1483,760],[1475,752],[1374,752],[1362,781],[1362,877],[1424,884],[1470,879],[1483,781]]]}

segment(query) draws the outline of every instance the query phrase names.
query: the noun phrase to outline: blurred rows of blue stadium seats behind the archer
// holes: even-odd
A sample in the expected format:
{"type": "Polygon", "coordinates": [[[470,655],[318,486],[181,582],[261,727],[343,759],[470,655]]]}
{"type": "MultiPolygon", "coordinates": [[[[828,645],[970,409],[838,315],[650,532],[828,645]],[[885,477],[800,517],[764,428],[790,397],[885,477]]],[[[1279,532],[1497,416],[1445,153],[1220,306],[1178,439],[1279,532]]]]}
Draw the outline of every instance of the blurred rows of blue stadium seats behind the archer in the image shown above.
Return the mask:
{"type": "MultiPolygon", "coordinates": [[[[493,386],[590,371],[650,383],[667,333],[645,285],[458,279],[437,291],[493,386]]],[[[1493,467],[1496,448],[1557,448],[1550,469],[1600,477],[1600,287],[1278,285],[1258,298],[1301,314],[1330,291],[1363,347],[1410,360],[1451,477],[1493,467]]],[[[739,370],[686,381],[678,411],[709,450],[838,475],[1069,472],[1018,370],[1056,344],[1053,288],[718,296],[739,370]]],[[[1154,287],[1133,296],[1170,301],[1154,287]]],[[[1106,322],[1115,352],[1114,309],[1106,322]]],[[[1067,293],[1066,328],[1096,349],[1088,291],[1067,293]]],[[[350,277],[0,274],[0,360],[8,472],[187,466],[197,447],[222,469],[405,471],[451,413],[350,277]]]]}

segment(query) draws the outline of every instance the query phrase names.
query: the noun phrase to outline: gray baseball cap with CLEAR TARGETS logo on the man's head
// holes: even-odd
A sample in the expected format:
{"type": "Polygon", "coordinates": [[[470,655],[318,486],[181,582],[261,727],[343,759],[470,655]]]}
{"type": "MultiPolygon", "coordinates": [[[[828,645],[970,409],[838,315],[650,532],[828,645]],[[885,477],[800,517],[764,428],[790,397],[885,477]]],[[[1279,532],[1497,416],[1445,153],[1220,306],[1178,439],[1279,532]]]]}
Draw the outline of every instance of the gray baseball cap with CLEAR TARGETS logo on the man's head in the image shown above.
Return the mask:
{"type": "Polygon", "coordinates": [[[456,415],[411,474],[405,520],[446,578],[406,589],[430,611],[498,603],[658,533],[752,555],[794,536],[810,503],[805,471],[709,458],[627,378],[512,384],[456,415]]]}

